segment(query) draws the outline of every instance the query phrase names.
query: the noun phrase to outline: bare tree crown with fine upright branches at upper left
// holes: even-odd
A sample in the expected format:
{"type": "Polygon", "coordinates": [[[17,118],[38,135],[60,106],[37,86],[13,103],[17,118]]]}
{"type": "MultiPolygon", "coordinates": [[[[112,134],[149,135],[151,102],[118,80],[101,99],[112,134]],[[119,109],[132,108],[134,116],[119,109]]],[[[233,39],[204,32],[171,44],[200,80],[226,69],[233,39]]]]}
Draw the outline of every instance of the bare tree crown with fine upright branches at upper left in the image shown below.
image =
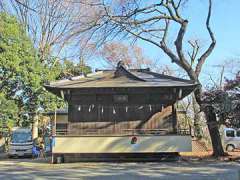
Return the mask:
{"type": "Polygon", "coordinates": [[[50,56],[80,59],[83,55],[91,36],[82,34],[91,29],[89,23],[84,24],[86,20],[96,20],[86,6],[68,0],[10,0],[3,5],[25,26],[41,62],[51,59],[50,56]]]}

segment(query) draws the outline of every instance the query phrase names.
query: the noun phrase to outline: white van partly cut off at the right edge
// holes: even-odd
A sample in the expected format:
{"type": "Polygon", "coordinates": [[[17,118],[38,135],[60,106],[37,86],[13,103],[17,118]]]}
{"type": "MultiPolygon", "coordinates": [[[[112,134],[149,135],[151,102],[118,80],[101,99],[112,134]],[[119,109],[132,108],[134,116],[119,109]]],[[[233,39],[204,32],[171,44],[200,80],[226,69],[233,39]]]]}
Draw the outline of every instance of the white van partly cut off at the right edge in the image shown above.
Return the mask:
{"type": "Polygon", "coordinates": [[[234,151],[240,148],[240,129],[224,128],[222,143],[226,151],[234,151]]]}

